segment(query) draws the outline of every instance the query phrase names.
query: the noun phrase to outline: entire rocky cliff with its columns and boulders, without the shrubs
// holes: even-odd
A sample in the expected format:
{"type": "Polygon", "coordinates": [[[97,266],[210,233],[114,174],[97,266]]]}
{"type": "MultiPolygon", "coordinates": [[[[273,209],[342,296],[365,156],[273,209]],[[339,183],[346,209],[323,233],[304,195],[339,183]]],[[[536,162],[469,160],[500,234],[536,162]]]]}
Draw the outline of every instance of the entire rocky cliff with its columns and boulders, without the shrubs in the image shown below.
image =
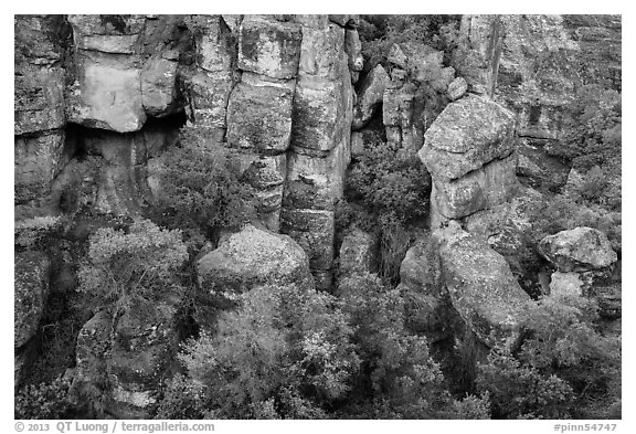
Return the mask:
{"type": "MultiPolygon", "coordinates": [[[[52,294],[78,297],[88,237],[146,215],[162,194],[165,151],[194,136],[232,151],[256,218],[192,243],[193,298],[176,285],[163,299],[92,307],[73,329],[73,391],[99,395],[104,414],[148,416],[179,342],[213,331],[215,309],[237,295],[330,290],[335,276],[377,273],[385,234],[378,222],[344,230],[340,201],[351,161],[379,141],[432,179],[430,203],[417,199],[428,220],[392,246],[407,329],[433,345],[462,334],[516,349],[530,296],[500,253],[526,246],[547,191],[573,184],[553,149],[575,126],[577,88],[621,88],[621,20],[464,15],[457,32],[449,52],[391,43],[365,70],[357,15],[15,15],[15,387],[52,294]]],[[[594,284],[619,258],[602,232],[562,231],[538,251],[556,268],[553,294],[590,295],[605,318],[621,316],[619,288],[594,284]]]]}

